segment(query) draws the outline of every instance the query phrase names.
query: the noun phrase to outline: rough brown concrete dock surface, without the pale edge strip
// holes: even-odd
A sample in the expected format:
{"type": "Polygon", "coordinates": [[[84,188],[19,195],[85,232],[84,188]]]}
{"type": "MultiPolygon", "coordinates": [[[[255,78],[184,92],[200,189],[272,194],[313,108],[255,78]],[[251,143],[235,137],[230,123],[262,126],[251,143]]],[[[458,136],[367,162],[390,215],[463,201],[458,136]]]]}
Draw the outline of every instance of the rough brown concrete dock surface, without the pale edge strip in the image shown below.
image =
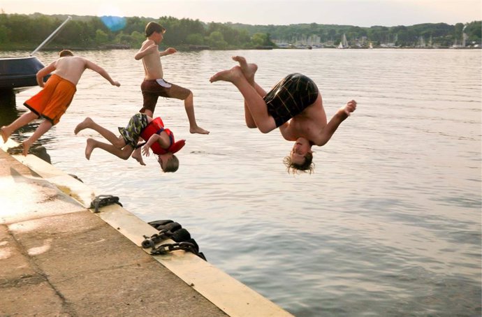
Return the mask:
{"type": "Polygon", "coordinates": [[[0,316],[227,316],[0,150],[0,316]]]}

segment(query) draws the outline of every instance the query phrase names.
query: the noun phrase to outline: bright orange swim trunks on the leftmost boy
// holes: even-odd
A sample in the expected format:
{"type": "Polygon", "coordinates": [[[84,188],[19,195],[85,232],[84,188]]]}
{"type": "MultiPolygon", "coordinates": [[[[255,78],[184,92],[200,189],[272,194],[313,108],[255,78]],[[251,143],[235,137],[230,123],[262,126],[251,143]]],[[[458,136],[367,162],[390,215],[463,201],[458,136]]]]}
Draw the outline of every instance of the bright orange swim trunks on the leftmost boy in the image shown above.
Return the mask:
{"type": "Polygon", "coordinates": [[[48,119],[53,125],[59,123],[71,104],[73,95],[77,91],[75,84],[53,74],[45,82],[45,86],[35,96],[24,102],[36,115],[48,119]]]}

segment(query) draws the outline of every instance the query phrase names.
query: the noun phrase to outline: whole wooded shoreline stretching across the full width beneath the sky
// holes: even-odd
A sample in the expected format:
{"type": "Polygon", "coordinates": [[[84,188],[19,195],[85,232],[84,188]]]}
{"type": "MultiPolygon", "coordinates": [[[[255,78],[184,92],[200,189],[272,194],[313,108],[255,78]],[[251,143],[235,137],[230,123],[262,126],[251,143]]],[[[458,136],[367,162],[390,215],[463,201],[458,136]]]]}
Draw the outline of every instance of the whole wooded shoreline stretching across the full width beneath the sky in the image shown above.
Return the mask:
{"type": "MultiPolygon", "coordinates": [[[[481,21],[455,25],[416,24],[397,27],[354,27],[335,24],[291,24],[291,25],[249,25],[200,22],[199,20],[177,19],[175,17],[95,17],[77,16],[45,46],[57,49],[98,48],[109,45],[140,47],[145,40],[145,25],[150,21],[159,22],[166,28],[163,45],[177,48],[210,47],[217,50],[275,47],[275,41],[294,43],[316,38],[319,43],[337,44],[343,34],[349,41],[360,39],[373,42],[395,43],[400,47],[413,46],[424,37],[434,45],[448,47],[461,43],[465,34],[467,43],[481,43],[481,21]]],[[[54,29],[66,20],[67,15],[31,15],[0,13],[0,49],[30,50],[47,38],[54,29]]]]}

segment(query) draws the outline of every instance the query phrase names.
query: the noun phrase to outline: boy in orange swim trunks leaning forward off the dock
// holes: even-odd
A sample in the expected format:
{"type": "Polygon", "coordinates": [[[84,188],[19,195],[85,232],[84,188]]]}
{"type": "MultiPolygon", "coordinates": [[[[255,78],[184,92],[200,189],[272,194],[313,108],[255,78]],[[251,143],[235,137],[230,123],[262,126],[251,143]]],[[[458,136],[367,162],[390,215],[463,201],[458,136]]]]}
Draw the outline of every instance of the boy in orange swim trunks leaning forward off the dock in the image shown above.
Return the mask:
{"type": "Polygon", "coordinates": [[[108,80],[112,86],[120,86],[119,82],[112,80],[101,66],[84,57],[74,56],[70,50],[62,50],[59,52],[59,59],[45,66],[36,74],[38,85],[43,89],[25,101],[24,105],[29,108],[30,112],[26,112],[8,126],[0,128],[3,142],[8,140],[13,131],[25,126],[30,121],[43,117],[43,122],[34,134],[22,142],[23,154],[26,156],[31,145],[52,126],[59,123],[60,117],[71,104],[75,91],[77,91],[76,86],[87,68],[108,80]],[[52,75],[44,84],[43,78],[50,73],[52,75]]]}

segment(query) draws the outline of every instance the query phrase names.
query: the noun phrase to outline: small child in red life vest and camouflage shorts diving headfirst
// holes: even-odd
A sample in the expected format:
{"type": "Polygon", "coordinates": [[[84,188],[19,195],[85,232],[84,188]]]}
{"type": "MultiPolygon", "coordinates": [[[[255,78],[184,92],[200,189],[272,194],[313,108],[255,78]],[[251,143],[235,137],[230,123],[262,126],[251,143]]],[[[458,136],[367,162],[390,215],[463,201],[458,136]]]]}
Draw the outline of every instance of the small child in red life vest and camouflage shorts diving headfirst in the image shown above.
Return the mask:
{"type": "MultiPolygon", "coordinates": [[[[153,120],[143,113],[137,113],[131,117],[125,128],[119,128],[121,134],[119,138],[89,117],[80,122],[73,132],[77,134],[85,128],[92,128],[92,130],[101,133],[110,142],[108,144],[92,138],[87,139],[85,158],[88,160],[92,151],[97,147],[126,160],[138,147],[138,139],[143,138],[147,141],[143,146],[143,154],[149,156],[149,148],[152,148],[154,154],[158,155],[157,161],[161,165],[163,172],[175,172],[179,168],[179,160],[174,153],[184,147],[184,140],[175,142],[174,134],[168,128],[164,128],[161,118],[153,120]]],[[[145,165],[142,156],[134,158],[141,165],[145,165]]]]}

